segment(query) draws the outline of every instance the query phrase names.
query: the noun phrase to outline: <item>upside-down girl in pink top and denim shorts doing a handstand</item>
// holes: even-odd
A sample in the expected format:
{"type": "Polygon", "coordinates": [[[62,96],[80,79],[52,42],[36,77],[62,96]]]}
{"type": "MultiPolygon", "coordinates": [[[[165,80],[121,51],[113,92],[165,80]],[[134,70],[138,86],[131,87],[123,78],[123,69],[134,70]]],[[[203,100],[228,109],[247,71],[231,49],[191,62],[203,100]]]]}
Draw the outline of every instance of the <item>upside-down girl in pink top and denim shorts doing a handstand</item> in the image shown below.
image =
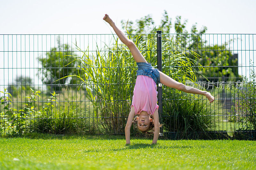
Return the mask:
{"type": "Polygon", "coordinates": [[[134,42],[128,39],[124,33],[118,29],[108,14],[103,18],[114,29],[119,39],[130,49],[135,62],[138,65],[137,78],[132,96],[131,111],[125,126],[126,144],[130,144],[130,129],[132,122],[137,122],[137,127],[142,132],[147,132],[154,127],[154,137],[152,144],[156,144],[159,136],[159,118],[157,105],[156,84],[162,83],[183,92],[201,94],[207,97],[210,103],[214,97],[210,92],[202,91],[175,81],[158,69],[154,69],[146,61],[134,42]],[[136,116],[137,115],[137,116],[136,116]],[[133,118],[135,117],[134,121],[133,118]]]}

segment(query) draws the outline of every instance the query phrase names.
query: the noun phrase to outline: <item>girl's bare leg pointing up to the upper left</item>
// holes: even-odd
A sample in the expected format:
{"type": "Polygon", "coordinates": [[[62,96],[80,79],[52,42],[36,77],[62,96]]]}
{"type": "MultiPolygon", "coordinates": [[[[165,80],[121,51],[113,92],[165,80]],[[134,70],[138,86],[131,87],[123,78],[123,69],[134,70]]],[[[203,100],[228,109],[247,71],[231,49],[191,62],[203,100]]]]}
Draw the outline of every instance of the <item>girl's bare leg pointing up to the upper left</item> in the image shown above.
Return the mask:
{"type": "Polygon", "coordinates": [[[143,57],[143,55],[140,53],[139,49],[136,47],[134,42],[127,38],[124,33],[118,29],[115,25],[115,23],[112,21],[111,18],[109,18],[108,14],[105,14],[103,18],[116,32],[116,35],[119,37],[119,39],[130,49],[132,56],[134,60],[139,63],[139,62],[144,62],[147,63],[146,59],[143,57]]]}

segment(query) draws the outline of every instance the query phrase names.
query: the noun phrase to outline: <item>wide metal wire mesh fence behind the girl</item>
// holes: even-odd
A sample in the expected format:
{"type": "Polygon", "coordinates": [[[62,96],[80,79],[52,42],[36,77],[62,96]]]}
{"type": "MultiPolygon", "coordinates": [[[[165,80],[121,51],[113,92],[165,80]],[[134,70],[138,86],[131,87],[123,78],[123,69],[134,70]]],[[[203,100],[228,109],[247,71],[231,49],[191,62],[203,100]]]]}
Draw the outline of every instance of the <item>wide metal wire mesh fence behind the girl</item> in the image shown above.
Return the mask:
{"type": "MultiPolygon", "coordinates": [[[[158,84],[164,136],[255,139],[255,34],[127,36],[153,67],[215,97],[158,84]]],[[[1,34],[0,57],[1,134],[124,134],[137,65],[116,35],[1,34]]]]}

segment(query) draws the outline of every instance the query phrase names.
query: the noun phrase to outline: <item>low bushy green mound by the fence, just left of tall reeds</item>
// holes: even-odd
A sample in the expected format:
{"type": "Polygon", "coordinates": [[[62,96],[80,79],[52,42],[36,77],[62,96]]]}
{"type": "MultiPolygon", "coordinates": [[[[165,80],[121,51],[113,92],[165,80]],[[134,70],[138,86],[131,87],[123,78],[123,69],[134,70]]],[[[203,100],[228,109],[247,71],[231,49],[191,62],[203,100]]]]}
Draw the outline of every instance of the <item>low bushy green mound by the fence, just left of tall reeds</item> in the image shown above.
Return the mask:
{"type": "Polygon", "coordinates": [[[64,134],[78,133],[90,130],[88,123],[85,126],[85,118],[81,116],[81,109],[76,102],[64,102],[58,106],[55,92],[38,110],[38,115],[31,120],[31,130],[41,133],[64,134]],[[80,115],[78,115],[80,114],[80,115]]]}

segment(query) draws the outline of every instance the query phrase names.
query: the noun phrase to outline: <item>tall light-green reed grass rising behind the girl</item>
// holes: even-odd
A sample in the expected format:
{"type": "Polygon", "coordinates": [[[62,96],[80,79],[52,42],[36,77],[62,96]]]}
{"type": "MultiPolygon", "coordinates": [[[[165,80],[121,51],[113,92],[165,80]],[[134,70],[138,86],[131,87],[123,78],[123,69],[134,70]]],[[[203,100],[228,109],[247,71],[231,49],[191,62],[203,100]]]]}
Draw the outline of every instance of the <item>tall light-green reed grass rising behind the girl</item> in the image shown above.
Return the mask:
{"type": "MultiPolygon", "coordinates": [[[[133,40],[140,50],[142,50],[141,53],[146,60],[152,63],[153,66],[156,66],[156,35],[129,34],[129,38],[133,40]]],[[[187,48],[183,47],[178,41],[174,41],[174,39],[175,37],[173,36],[164,36],[162,42],[165,46],[165,50],[162,52],[164,61],[163,72],[182,83],[186,80],[196,82],[196,76],[198,74],[201,75],[201,71],[204,70],[204,68],[199,67],[201,66],[200,63],[196,62],[192,57],[200,60],[200,56],[192,51],[188,52],[187,48]],[[175,45],[171,45],[170,42],[175,45]],[[187,55],[190,55],[190,57],[187,57],[187,55]],[[199,69],[194,70],[193,68],[195,66],[198,66],[199,69]]],[[[95,117],[101,117],[103,131],[112,134],[124,133],[126,123],[125,118],[130,112],[133,95],[132,91],[136,80],[135,70],[137,70],[137,65],[132,58],[129,49],[122,43],[120,44],[117,39],[114,40],[113,46],[104,47],[107,49],[103,50],[97,49],[96,53],[93,53],[92,55],[89,55],[89,51],[82,51],[77,46],[76,48],[83,55],[73,56],[75,58],[73,62],[79,61],[78,63],[80,63],[80,65],[78,65],[78,70],[76,72],[78,74],[69,76],[80,78],[83,81],[81,87],[86,85],[86,98],[92,101],[93,115],[95,117]]],[[[168,94],[166,93],[167,92],[164,92],[163,94],[164,98],[167,98],[168,94]]],[[[177,97],[177,99],[178,98],[179,97],[177,97]]],[[[199,110],[205,107],[205,103],[195,103],[200,105],[196,108],[194,108],[192,104],[179,104],[184,104],[182,107],[187,108],[186,111],[183,110],[180,112],[180,116],[183,117],[189,115],[190,110],[194,110],[194,112],[197,113],[204,112],[199,110]]],[[[166,113],[176,114],[173,111],[173,109],[166,110],[166,113]]],[[[182,127],[187,124],[179,124],[177,127],[180,129],[178,130],[182,131],[182,133],[184,132],[184,135],[187,135],[187,128],[192,129],[192,131],[198,129],[202,129],[203,131],[207,130],[207,126],[211,121],[205,119],[203,116],[196,115],[195,118],[197,119],[197,122],[195,121],[195,125],[182,127]],[[186,130],[184,131],[183,128],[186,130]]],[[[192,117],[189,119],[192,119],[192,117]]],[[[189,125],[191,125],[191,123],[189,125]]],[[[166,127],[166,129],[170,128],[166,127]]]]}

